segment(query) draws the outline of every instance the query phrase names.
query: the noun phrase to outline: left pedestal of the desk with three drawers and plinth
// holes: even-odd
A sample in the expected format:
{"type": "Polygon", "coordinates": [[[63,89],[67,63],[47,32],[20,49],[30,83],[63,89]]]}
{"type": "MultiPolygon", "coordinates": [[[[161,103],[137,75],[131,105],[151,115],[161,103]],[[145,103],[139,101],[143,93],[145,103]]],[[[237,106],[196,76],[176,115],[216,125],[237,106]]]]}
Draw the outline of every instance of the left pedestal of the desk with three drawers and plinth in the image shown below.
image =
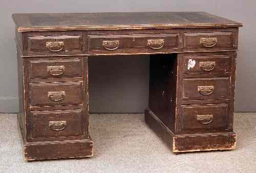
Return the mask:
{"type": "Polygon", "coordinates": [[[93,156],[88,58],[22,57],[17,52],[17,123],[25,160],[93,156]]]}

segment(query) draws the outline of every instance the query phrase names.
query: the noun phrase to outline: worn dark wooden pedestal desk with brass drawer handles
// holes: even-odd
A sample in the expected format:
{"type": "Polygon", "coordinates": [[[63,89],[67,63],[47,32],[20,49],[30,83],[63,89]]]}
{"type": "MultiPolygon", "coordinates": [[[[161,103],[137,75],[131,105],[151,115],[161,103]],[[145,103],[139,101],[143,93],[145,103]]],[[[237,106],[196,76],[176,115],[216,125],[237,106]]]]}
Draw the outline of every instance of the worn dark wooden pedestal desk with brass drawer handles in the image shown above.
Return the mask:
{"type": "Polygon", "coordinates": [[[97,55],[150,55],[145,121],[173,153],[236,148],[241,23],[205,12],[13,14],[13,20],[26,160],[93,156],[88,57],[97,55]]]}

